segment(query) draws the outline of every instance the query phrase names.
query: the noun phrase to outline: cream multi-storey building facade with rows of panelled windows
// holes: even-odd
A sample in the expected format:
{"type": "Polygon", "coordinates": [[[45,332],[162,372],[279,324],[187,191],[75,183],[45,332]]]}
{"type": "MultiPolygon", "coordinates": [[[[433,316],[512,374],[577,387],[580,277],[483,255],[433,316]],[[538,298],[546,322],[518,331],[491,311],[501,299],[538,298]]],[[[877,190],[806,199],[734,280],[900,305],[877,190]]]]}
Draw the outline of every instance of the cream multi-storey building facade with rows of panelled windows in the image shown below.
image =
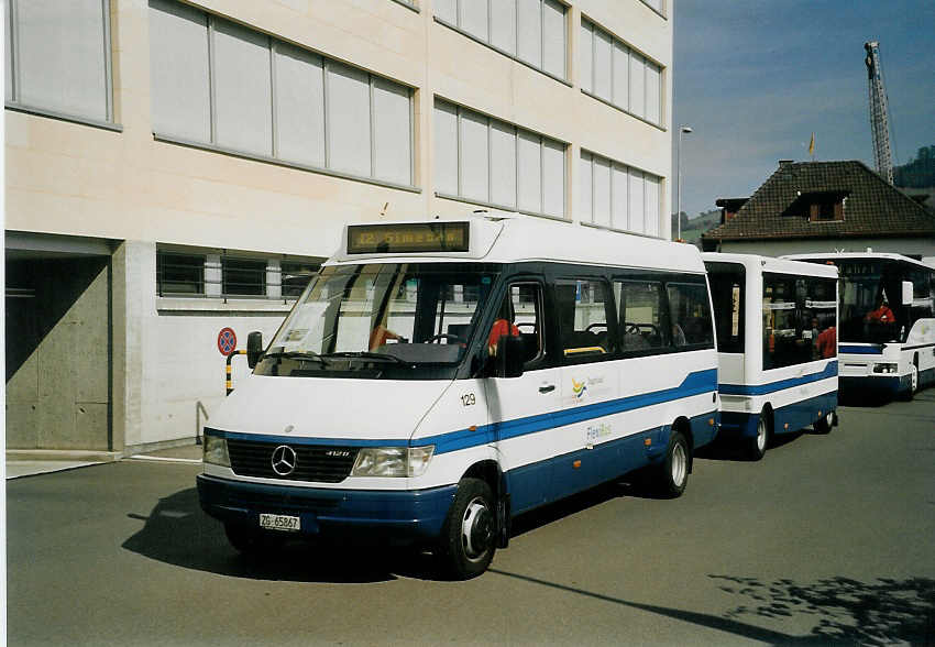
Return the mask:
{"type": "Polygon", "coordinates": [[[8,448],[191,442],[346,222],[670,238],[670,2],[8,0],[8,448]]]}

